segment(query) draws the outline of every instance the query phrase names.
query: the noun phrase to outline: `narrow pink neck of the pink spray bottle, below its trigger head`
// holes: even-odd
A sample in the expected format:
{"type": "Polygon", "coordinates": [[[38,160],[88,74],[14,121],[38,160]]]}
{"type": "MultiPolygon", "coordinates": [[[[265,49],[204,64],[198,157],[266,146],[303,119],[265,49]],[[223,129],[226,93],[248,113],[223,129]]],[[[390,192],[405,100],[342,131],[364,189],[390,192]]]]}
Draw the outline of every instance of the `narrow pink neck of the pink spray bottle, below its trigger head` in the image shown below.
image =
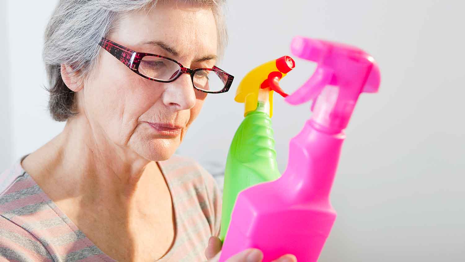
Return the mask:
{"type": "Polygon", "coordinates": [[[287,169],[279,179],[290,201],[296,203],[327,202],[339,163],[345,134],[309,120],[289,144],[287,169]]]}

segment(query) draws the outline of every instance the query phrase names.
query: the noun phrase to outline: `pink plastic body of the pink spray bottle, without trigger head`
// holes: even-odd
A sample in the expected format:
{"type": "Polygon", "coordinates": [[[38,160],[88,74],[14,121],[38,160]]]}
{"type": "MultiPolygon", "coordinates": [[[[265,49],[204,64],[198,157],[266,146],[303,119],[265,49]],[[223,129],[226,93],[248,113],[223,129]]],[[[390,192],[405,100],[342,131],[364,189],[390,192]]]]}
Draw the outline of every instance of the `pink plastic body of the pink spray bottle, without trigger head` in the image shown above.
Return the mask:
{"type": "Polygon", "coordinates": [[[239,194],[221,257],[257,248],[264,253],[263,262],[284,254],[317,261],[336,219],[329,193],[343,141],[343,134],[323,133],[307,121],[290,142],[282,177],[239,194]]]}

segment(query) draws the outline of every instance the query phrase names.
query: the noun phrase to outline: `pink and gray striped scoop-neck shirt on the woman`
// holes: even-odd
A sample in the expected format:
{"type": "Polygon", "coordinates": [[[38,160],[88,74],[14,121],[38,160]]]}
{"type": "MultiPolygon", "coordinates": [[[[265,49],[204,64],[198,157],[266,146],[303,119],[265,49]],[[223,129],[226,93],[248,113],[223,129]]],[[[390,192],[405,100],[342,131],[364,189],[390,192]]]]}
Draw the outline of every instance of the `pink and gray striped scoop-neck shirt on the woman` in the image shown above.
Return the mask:
{"type": "MultiPolygon", "coordinates": [[[[195,161],[159,161],[173,199],[176,233],[160,262],[201,262],[208,239],[219,235],[221,196],[195,161]]],[[[21,160],[0,175],[0,262],[115,262],[40,189],[21,160]]]]}

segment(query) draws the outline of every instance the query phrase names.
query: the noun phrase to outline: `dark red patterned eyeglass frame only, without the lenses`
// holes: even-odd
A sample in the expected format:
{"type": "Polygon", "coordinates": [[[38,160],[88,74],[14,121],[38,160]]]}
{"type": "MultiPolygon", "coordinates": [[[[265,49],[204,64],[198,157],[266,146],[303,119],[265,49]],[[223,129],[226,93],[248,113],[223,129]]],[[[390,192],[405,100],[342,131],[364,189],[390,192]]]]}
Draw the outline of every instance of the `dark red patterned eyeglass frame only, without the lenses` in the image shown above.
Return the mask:
{"type": "Polygon", "coordinates": [[[225,71],[223,71],[222,69],[220,69],[219,67],[216,67],[216,66],[213,66],[213,68],[190,69],[190,68],[184,67],[181,63],[179,63],[178,61],[173,60],[173,59],[171,59],[169,57],[158,55],[158,54],[139,53],[139,52],[133,51],[133,50],[127,48],[127,47],[123,47],[120,44],[117,44],[117,43],[115,43],[115,42],[113,42],[111,40],[108,40],[106,38],[103,38],[103,37],[100,40],[99,45],[101,47],[103,47],[106,51],[108,51],[108,53],[112,54],[114,57],[116,57],[118,60],[120,60],[127,67],[129,67],[129,69],[133,70],[134,73],[139,74],[140,76],[142,76],[143,78],[146,78],[148,80],[152,80],[152,81],[156,81],[156,82],[162,82],[162,83],[170,83],[170,82],[173,82],[176,79],[178,79],[178,77],[181,74],[186,74],[187,73],[187,74],[191,75],[192,86],[194,87],[194,89],[199,90],[200,92],[205,92],[205,93],[209,93],[209,94],[219,94],[219,93],[228,92],[229,88],[231,88],[231,84],[233,83],[233,80],[234,80],[234,76],[226,73],[225,71]],[[158,79],[154,79],[154,78],[145,76],[143,74],[140,74],[140,72],[139,72],[140,61],[142,60],[142,58],[144,58],[144,56],[155,56],[155,57],[160,57],[160,58],[164,58],[164,59],[173,61],[176,64],[178,64],[179,67],[181,67],[181,70],[179,70],[179,73],[172,80],[167,80],[167,81],[158,80],[158,79]],[[194,74],[195,74],[195,72],[200,71],[200,70],[207,70],[207,71],[213,71],[213,72],[221,73],[221,74],[217,74],[217,75],[219,76],[221,81],[223,81],[223,83],[225,84],[225,87],[223,87],[223,89],[221,89],[219,91],[206,91],[206,90],[202,90],[202,89],[199,89],[199,88],[195,87],[195,85],[194,85],[194,74]]]}

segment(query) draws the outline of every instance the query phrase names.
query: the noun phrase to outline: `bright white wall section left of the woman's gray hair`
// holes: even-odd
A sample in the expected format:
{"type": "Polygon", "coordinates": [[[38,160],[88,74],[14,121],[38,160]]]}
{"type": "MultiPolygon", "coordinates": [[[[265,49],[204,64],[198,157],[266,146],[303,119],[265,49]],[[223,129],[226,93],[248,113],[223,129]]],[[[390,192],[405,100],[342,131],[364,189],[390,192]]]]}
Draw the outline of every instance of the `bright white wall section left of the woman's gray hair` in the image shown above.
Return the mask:
{"type": "Polygon", "coordinates": [[[25,5],[21,1],[7,1],[7,40],[9,53],[14,54],[9,62],[13,160],[33,152],[64,127],[64,123],[53,121],[48,114],[42,63],[43,35],[56,3],[30,1],[25,5]]]}

